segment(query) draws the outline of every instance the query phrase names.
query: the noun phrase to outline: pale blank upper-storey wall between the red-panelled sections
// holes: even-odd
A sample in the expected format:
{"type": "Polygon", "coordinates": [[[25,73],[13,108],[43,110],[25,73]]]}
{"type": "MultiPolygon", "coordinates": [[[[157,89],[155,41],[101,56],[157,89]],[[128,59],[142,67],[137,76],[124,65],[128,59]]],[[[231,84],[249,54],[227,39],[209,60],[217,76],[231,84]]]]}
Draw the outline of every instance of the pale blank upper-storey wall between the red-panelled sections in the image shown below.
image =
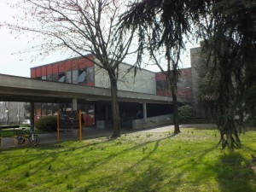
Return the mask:
{"type": "MultiPolygon", "coordinates": [[[[119,90],[156,94],[155,74],[148,70],[137,70],[137,75],[134,77],[134,71],[128,64],[119,65],[119,90]]],[[[105,70],[95,67],[95,85],[97,87],[109,88],[108,73],[105,70]]]]}

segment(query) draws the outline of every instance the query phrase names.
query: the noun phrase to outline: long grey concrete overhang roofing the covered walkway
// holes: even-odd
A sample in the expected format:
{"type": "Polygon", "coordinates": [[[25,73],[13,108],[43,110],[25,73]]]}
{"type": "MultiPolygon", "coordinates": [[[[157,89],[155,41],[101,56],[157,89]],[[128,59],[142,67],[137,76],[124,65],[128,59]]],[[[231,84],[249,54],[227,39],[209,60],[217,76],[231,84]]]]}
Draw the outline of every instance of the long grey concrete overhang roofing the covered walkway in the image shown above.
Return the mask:
{"type": "MultiPolygon", "coordinates": [[[[71,102],[110,101],[109,89],[79,84],[67,84],[0,74],[0,101],[8,102],[71,102]]],[[[156,96],[131,91],[118,91],[119,102],[148,102],[168,104],[172,97],[156,96]]],[[[179,100],[178,102],[188,102],[179,100]]]]}

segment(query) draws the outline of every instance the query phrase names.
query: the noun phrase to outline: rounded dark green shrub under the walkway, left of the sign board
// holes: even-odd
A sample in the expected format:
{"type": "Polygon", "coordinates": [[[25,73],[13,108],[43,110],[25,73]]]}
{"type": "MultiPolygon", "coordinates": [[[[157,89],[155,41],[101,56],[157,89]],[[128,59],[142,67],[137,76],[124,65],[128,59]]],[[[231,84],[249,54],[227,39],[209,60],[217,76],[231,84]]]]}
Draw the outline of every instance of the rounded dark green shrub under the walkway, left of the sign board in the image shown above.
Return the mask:
{"type": "Polygon", "coordinates": [[[35,126],[40,131],[57,131],[57,116],[47,116],[42,119],[39,119],[35,126]]]}

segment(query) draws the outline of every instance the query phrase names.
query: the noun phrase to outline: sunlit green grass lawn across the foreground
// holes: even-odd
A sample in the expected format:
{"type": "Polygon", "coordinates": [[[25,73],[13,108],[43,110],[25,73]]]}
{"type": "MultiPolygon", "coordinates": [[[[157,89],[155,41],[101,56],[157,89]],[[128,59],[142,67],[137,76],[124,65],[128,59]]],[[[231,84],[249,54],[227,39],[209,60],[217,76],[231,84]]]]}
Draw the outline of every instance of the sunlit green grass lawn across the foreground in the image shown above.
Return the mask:
{"type": "Polygon", "coordinates": [[[221,150],[218,131],[182,128],[0,151],[0,191],[256,191],[256,130],[221,150]]]}

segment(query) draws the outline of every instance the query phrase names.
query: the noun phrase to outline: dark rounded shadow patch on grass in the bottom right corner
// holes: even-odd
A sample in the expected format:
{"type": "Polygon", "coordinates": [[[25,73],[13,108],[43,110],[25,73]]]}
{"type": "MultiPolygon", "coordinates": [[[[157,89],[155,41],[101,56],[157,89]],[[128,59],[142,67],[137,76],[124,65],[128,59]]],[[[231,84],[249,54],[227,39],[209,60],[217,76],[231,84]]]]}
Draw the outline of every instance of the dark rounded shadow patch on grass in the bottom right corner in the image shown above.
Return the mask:
{"type": "Polygon", "coordinates": [[[248,162],[238,152],[223,154],[214,167],[220,191],[256,191],[256,176],[248,162]]]}

